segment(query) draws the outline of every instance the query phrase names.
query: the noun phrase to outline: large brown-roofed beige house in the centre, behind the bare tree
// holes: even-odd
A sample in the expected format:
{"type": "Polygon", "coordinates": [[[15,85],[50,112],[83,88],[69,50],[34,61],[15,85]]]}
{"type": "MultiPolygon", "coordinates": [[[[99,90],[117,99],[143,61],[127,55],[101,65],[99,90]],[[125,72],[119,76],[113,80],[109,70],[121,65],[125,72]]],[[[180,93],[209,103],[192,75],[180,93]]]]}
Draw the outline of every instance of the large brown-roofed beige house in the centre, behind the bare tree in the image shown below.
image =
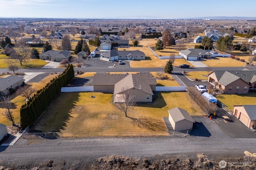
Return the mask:
{"type": "Polygon", "coordinates": [[[136,102],[152,102],[156,90],[152,74],[94,74],[94,91],[112,92],[114,102],[120,101],[124,90],[131,90],[136,102]]]}

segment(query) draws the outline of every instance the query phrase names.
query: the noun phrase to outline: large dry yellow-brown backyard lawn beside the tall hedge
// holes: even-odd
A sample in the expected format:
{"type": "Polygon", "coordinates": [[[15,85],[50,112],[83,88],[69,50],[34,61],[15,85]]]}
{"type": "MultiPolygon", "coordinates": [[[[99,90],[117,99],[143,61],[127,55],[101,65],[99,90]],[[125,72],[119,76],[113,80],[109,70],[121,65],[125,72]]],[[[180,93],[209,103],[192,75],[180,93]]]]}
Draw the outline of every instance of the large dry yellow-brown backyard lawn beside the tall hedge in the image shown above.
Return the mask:
{"type": "Polygon", "coordinates": [[[190,101],[186,92],[160,92],[156,102],[138,104],[125,117],[110,103],[112,94],[62,93],[33,128],[60,131],[64,137],[168,135],[162,118],[168,117],[168,109],[182,107],[191,115],[202,115],[190,101]],[[96,97],[90,98],[92,95],[96,97]]]}

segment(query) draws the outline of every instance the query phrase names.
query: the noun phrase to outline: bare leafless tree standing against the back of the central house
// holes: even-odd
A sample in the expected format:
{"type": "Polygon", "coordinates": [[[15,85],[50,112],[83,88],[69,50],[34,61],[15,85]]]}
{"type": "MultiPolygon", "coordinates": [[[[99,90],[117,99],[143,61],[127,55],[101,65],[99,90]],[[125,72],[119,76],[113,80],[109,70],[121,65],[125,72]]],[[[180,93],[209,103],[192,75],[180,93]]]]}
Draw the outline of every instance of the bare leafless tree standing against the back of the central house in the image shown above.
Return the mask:
{"type": "Polygon", "coordinates": [[[121,89],[120,94],[116,94],[115,96],[115,106],[117,109],[125,113],[125,117],[127,117],[127,112],[132,110],[132,106],[136,105],[136,100],[132,93],[131,89],[128,87],[123,87],[121,89]]]}

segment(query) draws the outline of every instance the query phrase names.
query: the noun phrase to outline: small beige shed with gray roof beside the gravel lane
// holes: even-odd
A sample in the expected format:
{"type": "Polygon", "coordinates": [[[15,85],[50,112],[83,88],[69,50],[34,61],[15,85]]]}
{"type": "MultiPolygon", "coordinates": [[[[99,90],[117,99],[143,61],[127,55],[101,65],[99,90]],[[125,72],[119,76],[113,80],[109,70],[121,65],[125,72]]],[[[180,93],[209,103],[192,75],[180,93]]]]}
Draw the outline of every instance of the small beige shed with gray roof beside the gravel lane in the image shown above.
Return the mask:
{"type": "Polygon", "coordinates": [[[168,110],[169,121],[174,131],[186,131],[193,129],[194,119],[189,115],[188,111],[175,107],[168,110]]]}

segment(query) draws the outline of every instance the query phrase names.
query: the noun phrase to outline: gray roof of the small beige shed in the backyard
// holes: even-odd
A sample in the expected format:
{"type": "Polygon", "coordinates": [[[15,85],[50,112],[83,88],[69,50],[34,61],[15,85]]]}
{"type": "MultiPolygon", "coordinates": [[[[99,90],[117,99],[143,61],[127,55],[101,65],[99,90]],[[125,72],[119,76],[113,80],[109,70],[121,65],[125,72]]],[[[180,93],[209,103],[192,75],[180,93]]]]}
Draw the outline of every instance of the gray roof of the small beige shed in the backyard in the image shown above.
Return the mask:
{"type": "Polygon", "coordinates": [[[175,107],[173,109],[168,110],[169,114],[171,115],[174,122],[182,121],[182,120],[188,120],[195,123],[194,119],[189,115],[188,111],[180,108],[175,107]]]}

